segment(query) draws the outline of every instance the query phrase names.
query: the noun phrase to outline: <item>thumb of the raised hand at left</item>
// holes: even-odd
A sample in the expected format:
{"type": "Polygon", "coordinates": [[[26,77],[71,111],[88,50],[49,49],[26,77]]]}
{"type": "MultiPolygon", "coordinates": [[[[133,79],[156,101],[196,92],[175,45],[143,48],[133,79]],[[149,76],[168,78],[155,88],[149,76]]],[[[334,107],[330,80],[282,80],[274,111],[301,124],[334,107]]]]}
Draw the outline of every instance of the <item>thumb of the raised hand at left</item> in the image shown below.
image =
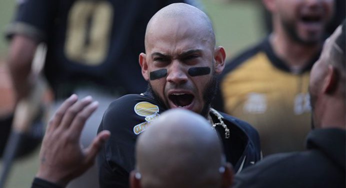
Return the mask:
{"type": "Polygon", "coordinates": [[[84,150],[84,154],[85,154],[84,162],[86,164],[92,164],[102,144],[109,138],[109,136],[110,136],[110,132],[108,130],[102,130],[92,140],[92,143],[84,150]]]}

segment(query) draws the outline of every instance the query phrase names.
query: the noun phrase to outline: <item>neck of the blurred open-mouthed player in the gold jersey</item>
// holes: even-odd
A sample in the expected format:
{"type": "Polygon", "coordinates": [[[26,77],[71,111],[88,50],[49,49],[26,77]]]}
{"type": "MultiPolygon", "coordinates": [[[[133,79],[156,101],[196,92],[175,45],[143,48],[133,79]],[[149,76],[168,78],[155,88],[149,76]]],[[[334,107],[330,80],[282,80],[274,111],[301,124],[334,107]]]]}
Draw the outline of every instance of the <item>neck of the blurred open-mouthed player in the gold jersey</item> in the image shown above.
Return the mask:
{"type": "Polygon", "coordinates": [[[274,24],[274,31],[270,34],[269,42],[274,53],[282,59],[291,70],[301,70],[309,60],[319,52],[321,43],[303,45],[293,40],[282,28],[280,23],[274,24]],[[277,25],[277,26],[276,26],[277,25]]]}

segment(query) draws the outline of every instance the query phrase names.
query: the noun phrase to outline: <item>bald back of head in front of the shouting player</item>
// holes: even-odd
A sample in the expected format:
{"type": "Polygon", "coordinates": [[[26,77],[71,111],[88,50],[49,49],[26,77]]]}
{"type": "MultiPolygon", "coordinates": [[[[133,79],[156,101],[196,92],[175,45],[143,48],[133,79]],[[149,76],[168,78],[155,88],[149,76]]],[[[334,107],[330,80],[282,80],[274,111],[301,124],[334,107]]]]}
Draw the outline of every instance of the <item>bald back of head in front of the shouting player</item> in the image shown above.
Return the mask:
{"type": "Polygon", "coordinates": [[[136,170],[131,187],[228,187],[225,162],[216,132],[202,116],[171,109],[137,139],[136,170]],[[140,174],[140,175],[139,175],[140,174]]]}

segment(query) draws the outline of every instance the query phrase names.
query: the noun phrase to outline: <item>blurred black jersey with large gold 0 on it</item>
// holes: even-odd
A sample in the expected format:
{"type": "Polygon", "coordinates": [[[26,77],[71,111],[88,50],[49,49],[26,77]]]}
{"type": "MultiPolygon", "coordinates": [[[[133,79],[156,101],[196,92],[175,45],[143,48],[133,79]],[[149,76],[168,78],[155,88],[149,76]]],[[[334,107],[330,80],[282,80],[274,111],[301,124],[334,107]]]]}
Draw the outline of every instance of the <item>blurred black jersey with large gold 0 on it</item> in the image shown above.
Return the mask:
{"type": "Polygon", "coordinates": [[[75,87],[140,93],[145,27],[163,6],[184,0],[20,0],[7,36],[47,43],[44,73],[57,97],[75,87]]]}

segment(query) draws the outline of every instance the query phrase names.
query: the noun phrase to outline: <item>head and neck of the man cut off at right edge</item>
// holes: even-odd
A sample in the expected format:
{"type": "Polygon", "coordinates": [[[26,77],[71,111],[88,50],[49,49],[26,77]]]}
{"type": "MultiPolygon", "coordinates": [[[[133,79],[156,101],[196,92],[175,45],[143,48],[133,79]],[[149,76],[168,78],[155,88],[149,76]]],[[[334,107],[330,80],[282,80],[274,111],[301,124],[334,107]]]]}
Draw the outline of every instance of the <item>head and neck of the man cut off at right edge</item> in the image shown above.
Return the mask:
{"type": "Polygon", "coordinates": [[[310,73],[309,93],[314,127],[345,128],[345,21],[324,42],[310,73]]]}

